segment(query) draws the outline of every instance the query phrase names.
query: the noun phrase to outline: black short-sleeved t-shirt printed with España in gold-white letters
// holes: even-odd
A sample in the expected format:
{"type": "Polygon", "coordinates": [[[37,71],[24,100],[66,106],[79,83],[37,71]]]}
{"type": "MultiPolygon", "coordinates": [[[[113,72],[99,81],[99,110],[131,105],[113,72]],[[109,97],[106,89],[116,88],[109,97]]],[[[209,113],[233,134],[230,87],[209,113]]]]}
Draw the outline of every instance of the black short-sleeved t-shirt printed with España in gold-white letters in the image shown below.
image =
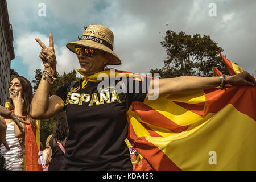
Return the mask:
{"type": "Polygon", "coordinates": [[[65,102],[69,125],[63,169],[133,170],[124,142],[126,108],[144,101],[151,79],[88,81],[84,89],[82,81],[65,84],[55,93],[65,102]]]}

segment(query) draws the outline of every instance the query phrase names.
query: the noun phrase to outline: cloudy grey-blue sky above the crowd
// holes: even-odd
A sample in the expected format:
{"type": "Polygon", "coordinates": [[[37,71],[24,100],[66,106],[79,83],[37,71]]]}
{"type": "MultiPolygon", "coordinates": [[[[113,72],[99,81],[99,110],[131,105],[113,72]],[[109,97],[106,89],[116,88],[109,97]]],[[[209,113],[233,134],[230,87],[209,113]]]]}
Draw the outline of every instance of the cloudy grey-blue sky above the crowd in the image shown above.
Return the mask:
{"type": "Polygon", "coordinates": [[[7,0],[7,6],[15,49],[11,68],[30,81],[35,69],[43,69],[36,37],[48,45],[48,34],[53,34],[57,71],[69,72],[79,63],[65,45],[77,40],[89,24],[113,31],[114,52],[122,60],[115,69],[148,73],[163,67],[166,53],[160,42],[167,30],[173,30],[210,35],[224,49],[223,55],[255,75],[254,0],[7,0]]]}

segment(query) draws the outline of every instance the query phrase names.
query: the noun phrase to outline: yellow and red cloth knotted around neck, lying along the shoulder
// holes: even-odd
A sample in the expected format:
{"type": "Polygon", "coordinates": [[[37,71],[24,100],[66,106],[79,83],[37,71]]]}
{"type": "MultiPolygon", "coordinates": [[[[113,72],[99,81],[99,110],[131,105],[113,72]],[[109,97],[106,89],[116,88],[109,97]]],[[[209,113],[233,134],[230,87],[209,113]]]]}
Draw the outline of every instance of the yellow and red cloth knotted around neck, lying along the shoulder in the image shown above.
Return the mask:
{"type": "Polygon", "coordinates": [[[102,81],[104,76],[108,76],[109,78],[111,77],[146,77],[144,75],[137,75],[131,72],[126,72],[126,71],[119,71],[117,69],[105,69],[104,71],[94,73],[93,75],[85,75],[81,69],[76,69],[77,72],[79,72],[81,75],[84,76],[84,81],[82,82],[82,88],[84,89],[85,86],[87,85],[88,81],[93,81],[93,82],[99,82],[102,81]],[[100,75],[102,74],[102,75],[100,75]],[[105,74],[105,75],[104,75],[105,74]],[[100,77],[98,77],[100,76],[100,77]]]}

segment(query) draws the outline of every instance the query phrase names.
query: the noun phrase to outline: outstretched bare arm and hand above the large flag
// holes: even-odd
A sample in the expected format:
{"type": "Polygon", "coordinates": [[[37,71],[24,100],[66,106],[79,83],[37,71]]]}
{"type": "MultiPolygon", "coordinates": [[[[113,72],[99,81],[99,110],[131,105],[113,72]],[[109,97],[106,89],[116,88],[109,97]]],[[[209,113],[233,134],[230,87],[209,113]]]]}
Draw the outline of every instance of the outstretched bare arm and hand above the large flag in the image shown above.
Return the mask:
{"type": "MultiPolygon", "coordinates": [[[[220,86],[220,77],[199,77],[199,76],[181,76],[176,78],[166,78],[151,80],[152,86],[148,90],[146,99],[150,96],[164,96],[168,93],[183,92],[196,89],[207,89],[220,86]],[[158,81],[158,87],[154,86],[158,81]]],[[[255,86],[256,81],[253,76],[247,72],[242,72],[234,76],[226,77],[226,84],[238,86],[255,86]]]]}

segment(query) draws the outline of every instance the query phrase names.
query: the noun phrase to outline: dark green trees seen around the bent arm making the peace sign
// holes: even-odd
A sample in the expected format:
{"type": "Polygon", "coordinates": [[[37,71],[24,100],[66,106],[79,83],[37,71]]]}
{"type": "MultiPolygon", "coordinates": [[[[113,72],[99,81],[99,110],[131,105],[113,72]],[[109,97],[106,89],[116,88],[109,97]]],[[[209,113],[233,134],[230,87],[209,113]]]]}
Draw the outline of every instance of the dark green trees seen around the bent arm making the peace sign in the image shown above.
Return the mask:
{"type": "MultiPolygon", "coordinates": [[[[36,89],[38,89],[38,85],[42,78],[42,70],[36,69],[35,73],[36,73],[35,80],[32,80],[32,83],[34,84],[33,86],[34,92],[36,91],[36,89]]],[[[59,89],[60,86],[64,85],[65,83],[79,80],[81,77],[77,78],[76,71],[73,70],[69,73],[64,72],[63,75],[59,75],[59,73],[56,72],[55,78],[56,80],[53,82],[51,86],[49,96],[52,96],[52,94],[55,93],[56,90],[59,89]]],[[[65,112],[62,112],[60,114],[57,114],[55,117],[51,119],[43,119],[42,121],[40,121],[40,141],[42,142],[43,146],[46,145],[47,137],[52,134],[57,118],[64,115],[65,115],[65,112]]]]}

